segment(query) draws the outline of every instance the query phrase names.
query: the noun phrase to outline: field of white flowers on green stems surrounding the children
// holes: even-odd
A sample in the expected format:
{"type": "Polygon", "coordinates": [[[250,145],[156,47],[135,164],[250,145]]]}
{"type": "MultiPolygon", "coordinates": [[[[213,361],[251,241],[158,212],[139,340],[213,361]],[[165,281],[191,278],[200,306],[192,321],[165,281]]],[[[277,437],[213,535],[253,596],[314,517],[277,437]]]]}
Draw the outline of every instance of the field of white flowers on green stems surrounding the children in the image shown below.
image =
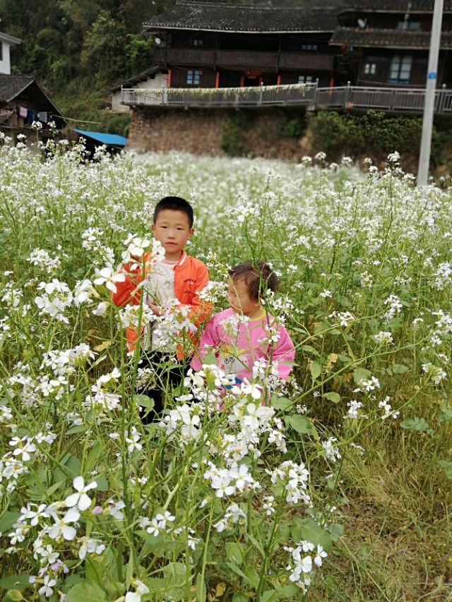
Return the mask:
{"type": "Polygon", "coordinates": [[[42,156],[0,148],[2,599],[451,599],[451,192],[396,153],[42,156]],[[280,275],[296,366],[269,405],[187,383],[141,423],[109,293],[165,195],[194,206],[215,311],[232,265],[280,275]]]}

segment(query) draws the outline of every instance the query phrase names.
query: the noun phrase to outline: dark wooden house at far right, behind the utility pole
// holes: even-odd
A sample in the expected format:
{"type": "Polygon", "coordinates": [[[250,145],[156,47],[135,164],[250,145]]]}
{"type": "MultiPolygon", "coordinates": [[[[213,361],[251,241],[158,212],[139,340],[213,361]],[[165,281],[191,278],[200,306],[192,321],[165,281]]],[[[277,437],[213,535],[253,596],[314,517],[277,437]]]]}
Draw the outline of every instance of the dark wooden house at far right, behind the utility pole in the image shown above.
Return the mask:
{"type": "MultiPolygon", "coordinates": [[[[425,88],[434,0],[359,0],[338,12],[336,76],[357,86],[425,88]]],[[[452,88],[452,0],[444,0],[437,86],[452,88]]]]}

